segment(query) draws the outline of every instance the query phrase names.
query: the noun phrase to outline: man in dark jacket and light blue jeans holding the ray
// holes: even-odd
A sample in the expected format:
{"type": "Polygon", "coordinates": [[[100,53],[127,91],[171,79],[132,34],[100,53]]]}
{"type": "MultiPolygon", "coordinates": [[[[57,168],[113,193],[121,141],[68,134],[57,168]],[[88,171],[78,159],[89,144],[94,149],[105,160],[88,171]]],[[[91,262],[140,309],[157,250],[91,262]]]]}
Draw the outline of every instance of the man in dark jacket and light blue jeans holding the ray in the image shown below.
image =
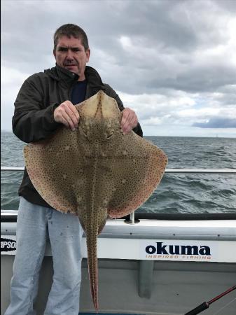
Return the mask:
{"type": "MultiPolygon", "coordinates": [[[[95,69],[86,66],[90,48],[81,27],[67,24],[57,29],[53,55],[56,66],[27,78],[18,93],[13,132],[19,139],[27,143],[46,139],[62,124],[76,130],[80,117],[74,104],[99,90],[116,99],[122,111],[121,132],[134,130],[142,136],[134,111],[124,109],[118,94],[102,82],[95,69]]],[[[26,169],[19,195],[11,304],[5,315],[36,314],[33,303],[47,239],[52,248],[54,274],[44,315],[78,315],[83,234],[78,218],[50,207],[35,190],[26,169]]]]}

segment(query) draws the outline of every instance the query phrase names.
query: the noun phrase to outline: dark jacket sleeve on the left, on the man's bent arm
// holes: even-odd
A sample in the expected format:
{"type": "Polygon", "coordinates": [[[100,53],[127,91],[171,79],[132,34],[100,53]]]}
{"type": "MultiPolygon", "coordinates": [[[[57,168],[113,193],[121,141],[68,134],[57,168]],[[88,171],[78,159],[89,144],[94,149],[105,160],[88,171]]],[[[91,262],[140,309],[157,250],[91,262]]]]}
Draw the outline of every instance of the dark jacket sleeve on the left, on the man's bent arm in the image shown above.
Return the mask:
{"type": "Polygon", "coordinates": [[[61,125],[53,117],[58,104],[46,104],[46,92],[33,77],[25,80],[20,88],[12,120],[13,133],[26,143],[46,139],[61,125]]]}

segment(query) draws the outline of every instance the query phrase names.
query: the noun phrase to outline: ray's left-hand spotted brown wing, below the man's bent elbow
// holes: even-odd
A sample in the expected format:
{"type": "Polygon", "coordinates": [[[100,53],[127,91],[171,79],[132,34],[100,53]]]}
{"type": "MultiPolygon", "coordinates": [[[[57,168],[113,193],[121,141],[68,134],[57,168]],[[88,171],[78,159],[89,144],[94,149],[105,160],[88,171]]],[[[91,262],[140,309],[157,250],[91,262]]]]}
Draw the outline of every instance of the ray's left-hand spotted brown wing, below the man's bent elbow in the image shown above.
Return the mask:
{"type": "Polygon", "coordinates": [[[61,127],[50,139],[24,148],[29,177],[51,207],[78,214],[78,203],[85,199],[83,135],[61,127]],[[76,192],[76,193],[75,193],[76,192]]]}

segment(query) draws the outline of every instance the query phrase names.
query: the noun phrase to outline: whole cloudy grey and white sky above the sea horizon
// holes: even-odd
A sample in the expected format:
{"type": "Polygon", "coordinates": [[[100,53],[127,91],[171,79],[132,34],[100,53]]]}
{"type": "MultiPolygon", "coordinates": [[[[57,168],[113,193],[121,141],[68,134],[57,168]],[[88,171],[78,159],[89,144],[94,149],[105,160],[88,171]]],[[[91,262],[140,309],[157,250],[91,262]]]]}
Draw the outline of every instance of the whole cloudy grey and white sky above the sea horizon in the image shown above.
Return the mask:
{"type": "Polygon", "coordinates": [[[235,0],[1,0],[1,130],[24,80],[55,66],[66,23],[144,136],[236,137],[235,0]]]}

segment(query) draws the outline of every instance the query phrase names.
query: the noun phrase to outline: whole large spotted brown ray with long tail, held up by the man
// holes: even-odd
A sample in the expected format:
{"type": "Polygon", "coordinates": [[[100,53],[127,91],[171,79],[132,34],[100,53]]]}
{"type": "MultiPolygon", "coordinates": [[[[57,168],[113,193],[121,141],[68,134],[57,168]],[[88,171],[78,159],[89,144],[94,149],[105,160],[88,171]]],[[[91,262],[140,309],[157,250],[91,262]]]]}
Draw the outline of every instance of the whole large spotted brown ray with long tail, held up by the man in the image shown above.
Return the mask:
{"type": "Polygon", "coordinates": [[[120,130],[116,99],[102,90],[75,105],[76,131],[62,125],[27,144],[25,166],[34,188],[57,211],[78,216],[86,235],[92,302],[98,312],[97,236],[108,218],[132,213],[153,193],[167,155],[150,141],[120,130]]]}

